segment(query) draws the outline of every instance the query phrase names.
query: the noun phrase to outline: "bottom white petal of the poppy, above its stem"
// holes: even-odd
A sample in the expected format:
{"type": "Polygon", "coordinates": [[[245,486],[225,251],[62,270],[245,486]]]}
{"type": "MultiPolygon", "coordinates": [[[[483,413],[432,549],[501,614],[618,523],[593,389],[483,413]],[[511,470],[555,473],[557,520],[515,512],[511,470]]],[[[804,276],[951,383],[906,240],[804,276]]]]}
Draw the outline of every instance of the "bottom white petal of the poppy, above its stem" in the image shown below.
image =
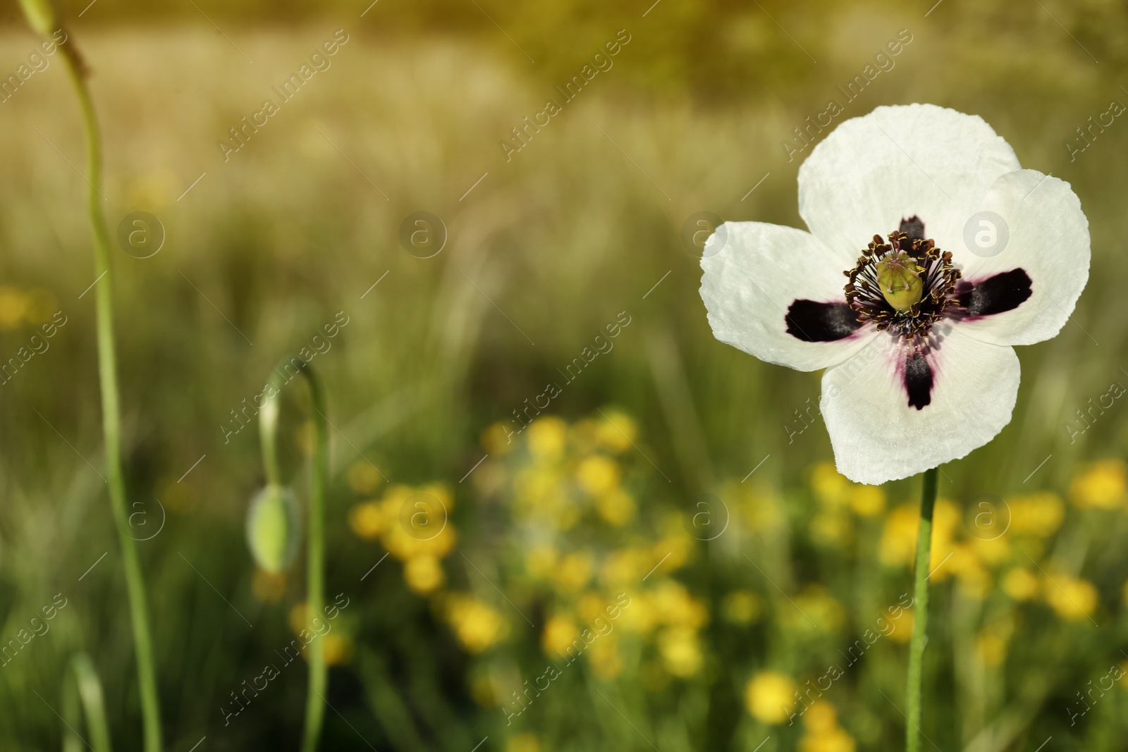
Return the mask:
{"type": "Polygon", "coordinates": [[[933,329],[932,401],[908,406],[904,355],[880,336],[822,375],[822,417],[838,471],[878,485],[960,459],[1011,422],[1019,393],[1019,359],[1010,346],[961,334],[959,325],[933,329]]]}

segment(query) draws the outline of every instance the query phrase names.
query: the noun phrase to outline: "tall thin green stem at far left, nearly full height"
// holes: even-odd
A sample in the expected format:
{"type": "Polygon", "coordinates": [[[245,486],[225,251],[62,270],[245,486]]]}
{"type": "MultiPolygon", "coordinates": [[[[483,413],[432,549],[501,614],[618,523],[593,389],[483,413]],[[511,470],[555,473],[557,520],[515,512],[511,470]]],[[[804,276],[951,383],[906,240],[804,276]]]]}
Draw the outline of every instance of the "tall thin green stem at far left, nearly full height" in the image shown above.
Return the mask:
{"type": "Polygon", "coordinates": [[[98,333],[98,380],[102,387],[102,427],[106,444],[106,483],[109,486],[109,503],[117,525],[117,538],[122,547],[122,566],[125,568],[125,585],[130,599],[130,616],[133,623],[133,648],[138,662],[138,684],[141,690],[141,713],[144,719],[144,750],[160,752],[160,704],[157,699],[157,675],[152,660],[152,638],[149,631],[149,609],[146,602],[144,581],[138,559],[136,541],[130,536],[130,522],[125,499],[125,477],[122,471],[121,414],[117,397],[117,360],[114,353],[114,286],[109,271],[109,230],[102,213],[102,145],[98,139],[98,121],[94,101],[86,85],[81,59],[74,43],[68,41],[60,47],[67,73],[82,110],[82,127],[86,132],[87,210],[94,229],[94,271],[97,275],[96,310],[98,333]]]}

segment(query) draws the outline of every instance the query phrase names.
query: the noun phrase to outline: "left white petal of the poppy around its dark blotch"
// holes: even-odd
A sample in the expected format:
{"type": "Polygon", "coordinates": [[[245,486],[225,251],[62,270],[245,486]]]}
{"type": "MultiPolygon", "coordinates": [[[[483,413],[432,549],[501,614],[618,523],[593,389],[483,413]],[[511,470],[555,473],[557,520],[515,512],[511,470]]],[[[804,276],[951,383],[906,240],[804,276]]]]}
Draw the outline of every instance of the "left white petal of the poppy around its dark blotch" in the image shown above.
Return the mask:
{"type": "Polygon", "coordinates": [[[843,262],[803,230],[764,222],[725,222],[702,256],[702,300],[713,335],[723,343],[799,371],[841,363],[874,336],[872,326],[836,342],[787,334],[795,300],[845,303],[843,262]]]}

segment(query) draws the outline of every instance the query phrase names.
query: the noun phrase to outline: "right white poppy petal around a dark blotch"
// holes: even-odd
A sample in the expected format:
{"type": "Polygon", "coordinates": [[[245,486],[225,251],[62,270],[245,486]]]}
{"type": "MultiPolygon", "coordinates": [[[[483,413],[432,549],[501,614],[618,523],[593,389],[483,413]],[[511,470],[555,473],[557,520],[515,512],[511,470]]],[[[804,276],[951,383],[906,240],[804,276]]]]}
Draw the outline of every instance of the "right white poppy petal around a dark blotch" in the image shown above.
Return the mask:
{"type": "MultiPolygon", "coordinates": [[[[1002,313],[968,319],[963,331],[985,342],[1031,345],[1061,330],[1089,281],[1089,220],[1069,184],[1037,170],[1008,172],[992,185],[969,231],[970,247],[954,253],[963,281],[976,283],[992,275],[1021,268],[1031,280],[1031,295],[1002,313]],[[980,224],[986,222],[986,224],[980,224]],[[977,240],[976,236],[982,233],[977,240]],[[995,256],[993,245],[1001,245],[995,256]],[[988,248],[977,247],[987,245],[988,248]]],[[[944,250],[950,250],[944,248],[944,250]]]]}

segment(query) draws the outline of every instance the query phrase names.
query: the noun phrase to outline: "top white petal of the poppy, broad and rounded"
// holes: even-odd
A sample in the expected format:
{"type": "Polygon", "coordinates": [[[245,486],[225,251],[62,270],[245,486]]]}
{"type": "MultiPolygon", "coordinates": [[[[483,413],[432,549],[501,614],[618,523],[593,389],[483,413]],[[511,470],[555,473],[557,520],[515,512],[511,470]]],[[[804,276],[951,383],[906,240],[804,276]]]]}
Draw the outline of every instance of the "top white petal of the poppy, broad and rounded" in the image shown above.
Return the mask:
{"type": "Polygon", "coordinates": [[[995,178],[1016,169],[1014,150],[978,116],[935,105],[878,107],[844,122],[803,162],[799,213],[823,242],[852,256],[914,214],[925,237],[946,249],[995,178]]]}

